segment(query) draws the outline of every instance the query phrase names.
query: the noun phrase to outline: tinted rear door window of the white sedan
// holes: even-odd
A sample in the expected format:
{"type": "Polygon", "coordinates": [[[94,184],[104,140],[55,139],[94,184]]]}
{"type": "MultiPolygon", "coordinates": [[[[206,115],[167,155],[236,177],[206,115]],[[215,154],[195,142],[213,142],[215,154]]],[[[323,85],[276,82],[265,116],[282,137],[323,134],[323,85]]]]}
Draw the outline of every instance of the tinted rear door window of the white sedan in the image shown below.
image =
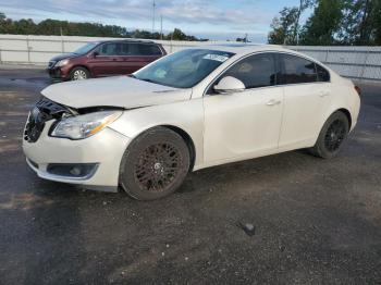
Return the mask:
{"type": "Polygon", "coordinates": [[[290,54],[281,54],[283,60],[282,84],[314,83],[318,75],[315,63],[290,54]]]}

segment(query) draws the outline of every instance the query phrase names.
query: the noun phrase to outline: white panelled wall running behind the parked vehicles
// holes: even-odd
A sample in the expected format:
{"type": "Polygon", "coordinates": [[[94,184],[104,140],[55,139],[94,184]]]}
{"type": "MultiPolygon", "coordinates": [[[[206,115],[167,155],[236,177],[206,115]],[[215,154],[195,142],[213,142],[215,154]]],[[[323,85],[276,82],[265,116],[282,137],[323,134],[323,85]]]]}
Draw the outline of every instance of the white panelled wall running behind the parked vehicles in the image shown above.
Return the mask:
{"type": "MultiPolygon", "coordinates": [[[[0,35],[0,63],[47,64],[56,54],[71,52],[87,41],[111,38],[67,36],[0,35]]],[[[167,52],[184,48],[225,44],[225,41],[170,41],[160,42],[167,52]]],[[[381,47],[287,47],[304,52],[331,66],[339,74],[355,78],[381,80],[381,47]]]]}

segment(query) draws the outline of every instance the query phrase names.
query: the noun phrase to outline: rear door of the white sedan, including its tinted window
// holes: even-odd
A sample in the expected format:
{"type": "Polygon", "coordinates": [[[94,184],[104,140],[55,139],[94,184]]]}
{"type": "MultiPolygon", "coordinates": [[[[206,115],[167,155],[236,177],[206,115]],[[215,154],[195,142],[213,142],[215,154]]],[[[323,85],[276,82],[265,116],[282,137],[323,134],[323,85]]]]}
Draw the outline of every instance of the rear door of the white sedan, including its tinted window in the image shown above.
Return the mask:
{"type": "Polygon", "coordinates": [[[329,73],[320,65],[294,54],[280,53],[284,110],[280,148],[314,144],[331,102],[329,73]],[[319,74],[319,75],[318,75],[319,74]]]}

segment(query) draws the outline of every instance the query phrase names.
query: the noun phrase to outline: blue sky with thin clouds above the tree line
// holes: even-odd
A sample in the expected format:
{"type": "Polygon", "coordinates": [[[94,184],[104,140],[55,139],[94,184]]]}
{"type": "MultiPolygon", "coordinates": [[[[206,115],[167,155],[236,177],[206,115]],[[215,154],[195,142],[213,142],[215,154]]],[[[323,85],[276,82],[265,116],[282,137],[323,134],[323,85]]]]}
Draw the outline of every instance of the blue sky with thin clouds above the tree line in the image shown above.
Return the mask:
{"type": "MultiPolygon", "coordinates": [[[[266,42],[272,18],[299,0],[156,0],[155,30],[181,28],[185,34],[214,40],[248,38],[266,42]]],[[[95,22],[152,30],[152,0],[0,0],[11,18],[95,22]]]]}

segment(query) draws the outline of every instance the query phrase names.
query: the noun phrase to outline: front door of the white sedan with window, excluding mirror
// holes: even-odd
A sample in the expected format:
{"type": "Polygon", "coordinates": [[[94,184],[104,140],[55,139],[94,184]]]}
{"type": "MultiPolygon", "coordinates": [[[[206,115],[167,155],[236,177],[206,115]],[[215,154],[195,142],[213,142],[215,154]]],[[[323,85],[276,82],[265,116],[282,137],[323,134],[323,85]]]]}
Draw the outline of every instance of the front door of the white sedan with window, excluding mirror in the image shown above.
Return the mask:
{"type": "Polygon", "coordinates": [[[275,86],[276,70],[271,53],[254,54],[220,77],[242,80],[244,91],[208,91],[204,98],[206,164],[249,159],[278,149],[283,87],[275,86]]]}

